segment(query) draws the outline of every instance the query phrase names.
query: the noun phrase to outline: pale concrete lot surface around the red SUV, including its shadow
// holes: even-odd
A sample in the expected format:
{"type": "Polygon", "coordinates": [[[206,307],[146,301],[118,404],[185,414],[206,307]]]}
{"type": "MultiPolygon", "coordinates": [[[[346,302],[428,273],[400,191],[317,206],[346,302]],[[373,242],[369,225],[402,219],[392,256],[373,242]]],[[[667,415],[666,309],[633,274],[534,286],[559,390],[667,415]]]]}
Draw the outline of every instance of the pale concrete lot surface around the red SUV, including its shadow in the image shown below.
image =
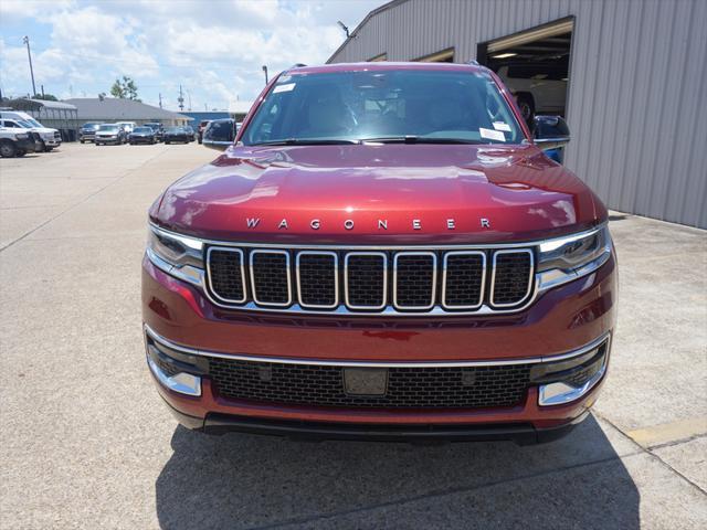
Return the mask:
{"type": "Polygon", "coordinates": [[[146,210],[196,144],[0,160],[1,528],[707,528],[707,232],[612,214],[594,413],[542,446],[209,437],[140,335],[146,210]]]}

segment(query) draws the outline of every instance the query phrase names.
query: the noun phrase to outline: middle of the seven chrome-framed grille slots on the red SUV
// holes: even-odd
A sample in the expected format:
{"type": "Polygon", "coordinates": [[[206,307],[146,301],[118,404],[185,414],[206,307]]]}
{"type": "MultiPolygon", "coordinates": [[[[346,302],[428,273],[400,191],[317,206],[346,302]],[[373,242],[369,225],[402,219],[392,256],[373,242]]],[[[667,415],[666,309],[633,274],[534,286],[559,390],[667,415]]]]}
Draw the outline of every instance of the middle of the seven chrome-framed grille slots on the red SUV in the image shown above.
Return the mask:
{"type": "Polygon", "coordinates": [[[344,262],[344,290],[350,309],[382,309],[388,290],[388,256],[350,252],[344,262]]]}

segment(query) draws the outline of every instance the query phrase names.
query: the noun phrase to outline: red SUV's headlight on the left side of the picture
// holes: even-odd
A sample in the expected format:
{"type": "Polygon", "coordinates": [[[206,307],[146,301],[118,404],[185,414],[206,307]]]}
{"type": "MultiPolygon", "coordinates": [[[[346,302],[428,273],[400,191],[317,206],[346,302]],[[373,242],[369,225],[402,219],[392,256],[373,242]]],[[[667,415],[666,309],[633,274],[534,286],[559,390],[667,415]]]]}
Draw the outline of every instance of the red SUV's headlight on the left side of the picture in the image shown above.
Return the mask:
{"type": "Polygon", "coordinates": [[[196,285],[203,279],[203,243],[193,237],[150,226],[147,256],[159,268],[196,285]]]}

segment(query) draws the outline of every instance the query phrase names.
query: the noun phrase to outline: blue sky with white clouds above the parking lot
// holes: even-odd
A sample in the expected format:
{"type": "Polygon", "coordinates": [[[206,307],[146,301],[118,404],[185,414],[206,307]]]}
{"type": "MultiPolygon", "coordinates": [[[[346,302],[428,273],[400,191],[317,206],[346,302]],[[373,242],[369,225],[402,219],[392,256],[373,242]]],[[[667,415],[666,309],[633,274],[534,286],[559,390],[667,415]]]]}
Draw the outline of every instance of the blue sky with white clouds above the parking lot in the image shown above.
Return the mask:
{"type": "Polygon", "coordinates": [[[270,75],[295,63],[321,64],[386,0],[0,0],[0,88],[60,99],[110,93],[118,76],[138,97],[178,110],[226,109],[253,100],[270,75]]]}

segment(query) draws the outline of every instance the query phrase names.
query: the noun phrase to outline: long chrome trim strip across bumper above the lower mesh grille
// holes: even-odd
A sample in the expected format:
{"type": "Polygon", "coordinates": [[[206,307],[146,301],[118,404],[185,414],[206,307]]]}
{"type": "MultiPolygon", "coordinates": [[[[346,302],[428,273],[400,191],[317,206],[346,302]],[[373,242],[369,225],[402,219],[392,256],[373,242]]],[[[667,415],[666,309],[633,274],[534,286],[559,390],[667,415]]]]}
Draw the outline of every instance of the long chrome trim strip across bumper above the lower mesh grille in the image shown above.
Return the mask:
{"type": "Polygon", "coordinates": [[[340,361],[340,360],[326,360],[326,359],[303,359],[303,358],[289,358],[289,357],[261,357],[261,356],[243,356],[239,353],[220,353],[215,351],[204,351],[186,346],[177,344],[169,339],[166,339],[161,335],[152,330],[147,324],[143,325],[145,332],[155,341],[160,342],[167,348],[171,348],[183,353],[200,357],[214,357],[218,359],[231,359],[234,361],[249,361],[249,362],[273,362],[278,364],[315,364],[318,367],[361,367],[361,368],[463,368],[463,367],[505,367],[513,364],[537,364],[540,362],[557,362],[572,359],[573,357],[582,356],[588,351],[598,348],[604,340],[609,338],[609,347],[611,346],[611,332],[602,335],[600,338],[592,340],[590,343],[567,353],[559,353],[557,356],[549,357],[531,357],[528,359],[498,359],[495,361],[418,361],[418,362],[401,362],[401,361],[340,361]]]}

